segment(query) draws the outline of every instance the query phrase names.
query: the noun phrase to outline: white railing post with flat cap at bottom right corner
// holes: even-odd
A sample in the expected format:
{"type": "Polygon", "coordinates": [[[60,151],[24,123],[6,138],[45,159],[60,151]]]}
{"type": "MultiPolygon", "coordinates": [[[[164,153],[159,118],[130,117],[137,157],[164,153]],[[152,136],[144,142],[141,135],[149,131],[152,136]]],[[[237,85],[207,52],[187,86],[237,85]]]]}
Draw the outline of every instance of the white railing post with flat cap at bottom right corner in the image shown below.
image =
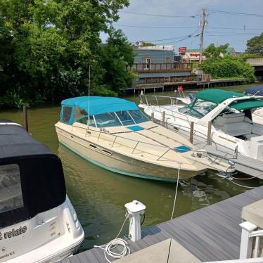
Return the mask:
{"type": "Polygon", "coordinates": [[[248,221],[245,221],[239,225],[242,227],[239,259],[247,259],[251,257],[252,253],[252,239],[249,237],[249,235],[252,233],[252,231],[257,229],[257,226],[248,221]]]}

